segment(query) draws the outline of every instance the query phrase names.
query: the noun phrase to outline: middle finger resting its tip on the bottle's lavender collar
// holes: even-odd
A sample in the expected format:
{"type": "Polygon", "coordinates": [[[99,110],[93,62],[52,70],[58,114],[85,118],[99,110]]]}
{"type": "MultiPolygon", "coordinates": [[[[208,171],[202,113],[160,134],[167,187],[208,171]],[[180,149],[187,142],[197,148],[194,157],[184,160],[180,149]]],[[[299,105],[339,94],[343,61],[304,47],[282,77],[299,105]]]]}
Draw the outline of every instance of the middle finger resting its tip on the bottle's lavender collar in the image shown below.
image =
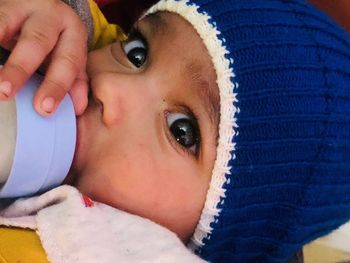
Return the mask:
{"type": "Polygon", "coordinates": [[[44,116],[56,110],[65,94],[74,85],[79,73],[85,71],[87,35],[84,34],[83,26],[83,30],[80,30],[82,33],[77,34],[78,28],[80,30],[80,24],[76,27],[71,24],[62,32],[45,79],[35,95],[34,107],[44,116]]]}

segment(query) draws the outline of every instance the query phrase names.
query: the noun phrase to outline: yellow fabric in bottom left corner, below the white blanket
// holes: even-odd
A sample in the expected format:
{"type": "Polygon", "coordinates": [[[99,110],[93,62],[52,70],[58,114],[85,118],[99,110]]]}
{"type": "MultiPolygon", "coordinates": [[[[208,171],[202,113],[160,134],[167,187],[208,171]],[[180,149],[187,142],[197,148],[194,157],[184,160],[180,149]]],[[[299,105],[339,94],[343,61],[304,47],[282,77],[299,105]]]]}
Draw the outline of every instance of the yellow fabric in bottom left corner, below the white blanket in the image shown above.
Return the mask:
{"type": "Polygon", "coordinates": [[[0,227],[0,263],[48,263],[33,230],[0,227]]]}

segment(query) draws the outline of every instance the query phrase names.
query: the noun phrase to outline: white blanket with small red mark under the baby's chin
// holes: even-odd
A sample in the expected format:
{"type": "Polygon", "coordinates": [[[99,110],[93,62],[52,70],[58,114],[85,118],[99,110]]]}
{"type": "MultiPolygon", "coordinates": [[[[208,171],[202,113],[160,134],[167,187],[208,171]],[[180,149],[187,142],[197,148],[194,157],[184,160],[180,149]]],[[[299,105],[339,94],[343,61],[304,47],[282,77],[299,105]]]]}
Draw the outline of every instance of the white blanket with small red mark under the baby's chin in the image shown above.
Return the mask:
{"type": "Polygon", "coordinates": [[[0,225],[35,230],[52,263],[205,262],[166,228],[93,202],[71,186],[17,200],[0,225]]]}

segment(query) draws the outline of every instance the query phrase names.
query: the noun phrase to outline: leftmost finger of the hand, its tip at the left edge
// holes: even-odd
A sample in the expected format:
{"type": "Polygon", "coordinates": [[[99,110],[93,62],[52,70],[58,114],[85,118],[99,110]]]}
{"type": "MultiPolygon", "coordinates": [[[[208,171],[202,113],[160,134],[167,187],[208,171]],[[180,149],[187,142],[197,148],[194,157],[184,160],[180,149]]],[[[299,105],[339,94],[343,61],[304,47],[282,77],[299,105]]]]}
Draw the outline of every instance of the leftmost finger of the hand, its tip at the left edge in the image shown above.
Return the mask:
{"type": "Polygon", "coordinates": [[[25,21],[16,46],[0,72],[0,98],[12,97],[54,47],[59,25],[38,16],[25,21]]]}

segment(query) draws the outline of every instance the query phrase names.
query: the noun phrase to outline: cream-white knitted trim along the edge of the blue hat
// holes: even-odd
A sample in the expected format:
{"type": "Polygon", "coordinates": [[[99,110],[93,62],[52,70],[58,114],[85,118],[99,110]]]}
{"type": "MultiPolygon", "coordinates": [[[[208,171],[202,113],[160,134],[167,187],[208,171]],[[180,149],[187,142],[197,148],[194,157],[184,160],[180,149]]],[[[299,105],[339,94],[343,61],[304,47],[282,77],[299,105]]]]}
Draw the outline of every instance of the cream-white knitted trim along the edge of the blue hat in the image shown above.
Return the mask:
{"type": "Polygon", "coordinates": [[[239,109],[234,105],[237,103],[235,89],[238,83],[233,81],[234,73],[232,62],[225,57],[229,51],[224,46],[224,39],[220,38],[220,32],[210,22],[210,16],[201,13],[198,6],[188,0],[161,0],[152,6],[146,13],[152,14],[158,11],[174,12],[182,16],[198,32],[203,40],[217,75],[217,84],[220,93],[220,123],[217,156],[213,168],[212,179],[207,193],[207,199],[202,210],[201,218],[192,236],[189,248],[196,250],[204,245],[204,239],[210,238],[212,232],[211,223],[217,220],[220,214],[218,205],[225,198],[225,184],[230,183],[228,176],[230,167],[228,163],[235,158],[235,144],[233,137],[236,136],[237,128],[236,113],[239,109]]]}

